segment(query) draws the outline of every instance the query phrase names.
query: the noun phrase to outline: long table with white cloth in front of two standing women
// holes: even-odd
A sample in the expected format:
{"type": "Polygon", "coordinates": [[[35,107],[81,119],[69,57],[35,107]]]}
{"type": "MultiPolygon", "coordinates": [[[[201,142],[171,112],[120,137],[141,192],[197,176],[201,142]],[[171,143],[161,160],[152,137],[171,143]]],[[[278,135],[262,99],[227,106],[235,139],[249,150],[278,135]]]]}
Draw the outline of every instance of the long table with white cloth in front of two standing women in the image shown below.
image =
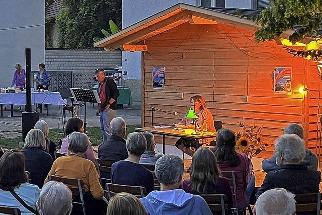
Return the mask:
{"type": "MultiPolygon", "coordinates": [[[[59,92],[31,92],[31,104],[48,104],[48,105],[63,105],[66,99],[62,99],[59,92]]],[[[13,117],[14,105],[26,105],[26,92],[16,93],[0,93],[0,116],[3,116],[3,105],[11,105],[11,117],[13,117]]],[[[49,107],[47,107],[47,116],[49,114],[49,107]]]]}

